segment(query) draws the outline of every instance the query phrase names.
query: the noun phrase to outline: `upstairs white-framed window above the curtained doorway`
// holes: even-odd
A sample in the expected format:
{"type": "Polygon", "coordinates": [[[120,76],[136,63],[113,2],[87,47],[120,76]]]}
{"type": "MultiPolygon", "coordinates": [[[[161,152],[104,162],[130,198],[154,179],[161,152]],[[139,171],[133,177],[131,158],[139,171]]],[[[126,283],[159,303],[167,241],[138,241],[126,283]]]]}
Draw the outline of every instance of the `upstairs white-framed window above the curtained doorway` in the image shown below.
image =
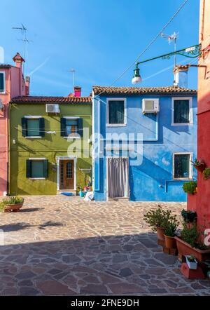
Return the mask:
{"type": "Polygon", "coordinates": [[[124,126],[126,123],[125,99],[108,100],[108,126],[124,126]]]}

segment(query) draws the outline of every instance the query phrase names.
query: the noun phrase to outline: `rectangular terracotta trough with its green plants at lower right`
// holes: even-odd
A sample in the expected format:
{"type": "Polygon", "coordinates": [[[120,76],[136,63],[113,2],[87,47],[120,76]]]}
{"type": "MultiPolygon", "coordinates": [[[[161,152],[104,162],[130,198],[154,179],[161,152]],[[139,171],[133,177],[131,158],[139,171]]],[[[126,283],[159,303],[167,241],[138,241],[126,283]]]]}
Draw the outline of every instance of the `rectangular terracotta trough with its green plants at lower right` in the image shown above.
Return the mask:
{"type": "Polygon", "coordinates": [[[210,258],[210,247],[202,243],[202,232],[197,229],[195,223],[193,223],[192,227],[188,227],[187,223],[184,222],[181,236],[176,236],[175,239],[179,259],[186,255],[194,255],[198,262],[210,258]]]}

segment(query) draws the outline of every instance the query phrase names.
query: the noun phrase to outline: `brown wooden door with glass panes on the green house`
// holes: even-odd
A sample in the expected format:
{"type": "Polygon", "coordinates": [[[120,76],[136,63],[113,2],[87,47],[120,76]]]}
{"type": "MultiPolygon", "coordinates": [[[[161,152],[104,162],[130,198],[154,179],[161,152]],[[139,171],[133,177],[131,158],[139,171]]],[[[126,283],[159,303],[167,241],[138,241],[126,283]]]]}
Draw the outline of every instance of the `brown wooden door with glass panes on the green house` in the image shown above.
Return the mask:
{"type": "Polygon", "coordinates": [[[59,189],[74,189],[74,167],[72,160],[59,163],[59,189]]]}

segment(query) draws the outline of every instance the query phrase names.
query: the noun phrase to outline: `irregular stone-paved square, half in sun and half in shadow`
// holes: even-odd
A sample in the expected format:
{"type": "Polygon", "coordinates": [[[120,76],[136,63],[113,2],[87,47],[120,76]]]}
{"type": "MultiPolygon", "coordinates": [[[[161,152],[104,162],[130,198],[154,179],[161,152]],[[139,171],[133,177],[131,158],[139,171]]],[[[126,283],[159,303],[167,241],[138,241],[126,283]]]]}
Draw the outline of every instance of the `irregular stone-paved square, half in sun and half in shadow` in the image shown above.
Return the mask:
{"type": "Polygon", "coordinates": [[[27,196],[20,213],[0,214],[0,295],[210,295],[210,281],[183,278],[144,224],[157,205],[27,196]]]}

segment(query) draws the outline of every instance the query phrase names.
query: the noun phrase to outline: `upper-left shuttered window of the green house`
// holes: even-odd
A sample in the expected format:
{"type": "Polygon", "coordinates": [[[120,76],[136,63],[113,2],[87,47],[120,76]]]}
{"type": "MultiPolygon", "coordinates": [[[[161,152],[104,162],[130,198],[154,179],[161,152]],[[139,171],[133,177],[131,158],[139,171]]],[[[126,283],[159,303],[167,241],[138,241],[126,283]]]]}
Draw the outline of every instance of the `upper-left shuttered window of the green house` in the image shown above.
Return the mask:
{"type": "Polygon", "coordinates": [[[44,137],[45,119],[41,116],[30,116],[22,118],[23,137],[44,137]]]}

